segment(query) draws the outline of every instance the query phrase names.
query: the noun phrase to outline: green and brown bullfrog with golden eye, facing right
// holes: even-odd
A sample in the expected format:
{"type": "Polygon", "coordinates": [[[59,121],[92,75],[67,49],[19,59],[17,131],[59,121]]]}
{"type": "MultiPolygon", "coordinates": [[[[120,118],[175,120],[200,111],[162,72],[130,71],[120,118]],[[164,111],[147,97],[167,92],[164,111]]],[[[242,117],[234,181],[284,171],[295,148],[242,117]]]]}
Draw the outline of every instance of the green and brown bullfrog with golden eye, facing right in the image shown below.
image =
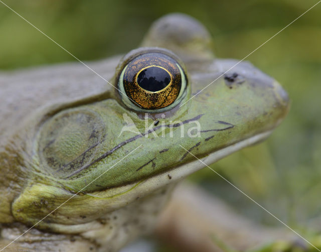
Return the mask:
{"type": "Polygon", "coordinates": [[[266,139],[287,93],[212,49],[170,14],[124,56],[1,73],[0,249],[117,251],[179,181],[266,139]]]}

